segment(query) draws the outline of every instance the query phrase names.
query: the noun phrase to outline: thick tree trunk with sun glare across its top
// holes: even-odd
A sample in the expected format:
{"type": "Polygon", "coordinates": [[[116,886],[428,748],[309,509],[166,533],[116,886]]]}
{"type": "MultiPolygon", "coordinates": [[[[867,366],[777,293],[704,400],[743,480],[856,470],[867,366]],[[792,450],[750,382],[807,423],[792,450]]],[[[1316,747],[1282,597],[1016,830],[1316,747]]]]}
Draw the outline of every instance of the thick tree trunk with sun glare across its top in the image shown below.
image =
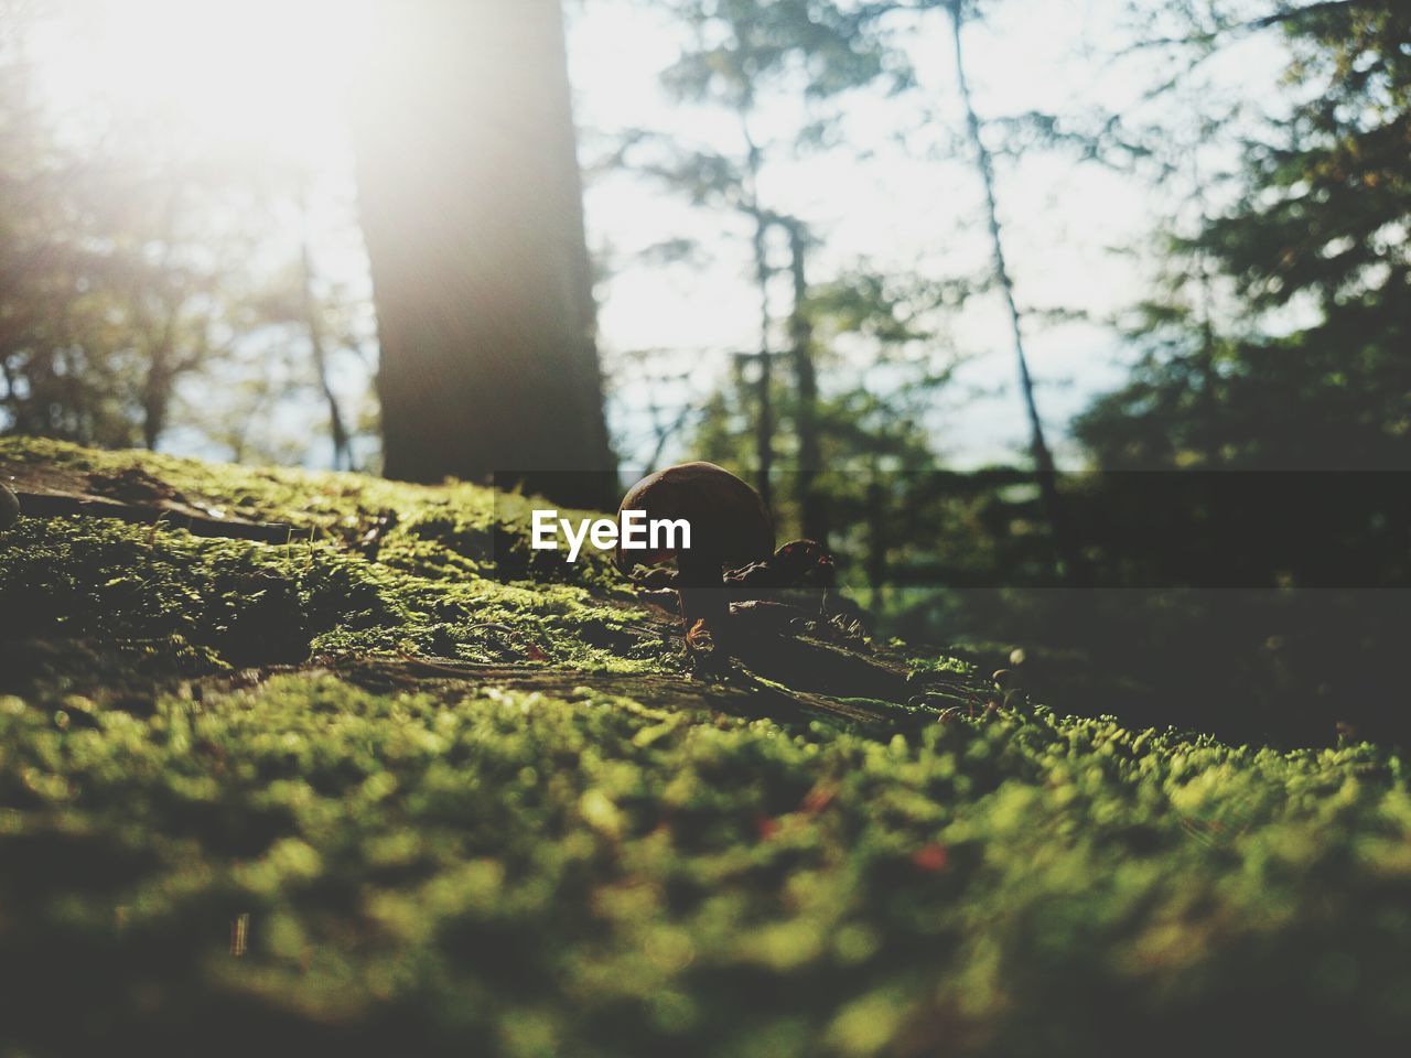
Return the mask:
{"type": "Polygon", "coordinates": [[[559,0],[381,0],[357,100],[385,473],[612,502],[559,0]]]}

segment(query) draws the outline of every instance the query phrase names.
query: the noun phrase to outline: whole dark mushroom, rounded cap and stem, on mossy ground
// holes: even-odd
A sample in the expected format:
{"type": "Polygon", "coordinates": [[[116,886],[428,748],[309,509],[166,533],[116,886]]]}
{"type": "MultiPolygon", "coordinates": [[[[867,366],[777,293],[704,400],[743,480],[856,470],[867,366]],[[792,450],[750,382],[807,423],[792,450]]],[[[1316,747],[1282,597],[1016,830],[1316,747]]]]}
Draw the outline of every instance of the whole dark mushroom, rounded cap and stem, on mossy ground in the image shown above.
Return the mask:
{"type": "Polygon", "coordinates": [[[725,568],[768,559],[775,553],[775,528],[763,499],[748,484],[714,463],[683,463],[659,470],[628,490],[618,506],[645,511],[648,522],[684,519],[691,546],[642,552],[617,549],[624,573],[636,566],[676,560],[676,591],[686,619],[686,642],[698,652],[714,643],[713,628],[729,615],[725,568]]]}

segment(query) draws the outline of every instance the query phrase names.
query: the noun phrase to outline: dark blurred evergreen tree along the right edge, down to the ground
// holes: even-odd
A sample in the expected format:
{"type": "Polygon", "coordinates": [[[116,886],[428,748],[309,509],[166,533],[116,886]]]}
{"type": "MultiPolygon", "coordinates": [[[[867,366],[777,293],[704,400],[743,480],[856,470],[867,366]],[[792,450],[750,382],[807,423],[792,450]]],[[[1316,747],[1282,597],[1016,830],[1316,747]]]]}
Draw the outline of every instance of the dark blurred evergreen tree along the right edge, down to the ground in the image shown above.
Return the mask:
{"type": "MultiPolygon", "coordinates": [[[[1103,470],[1411,468],[1405,4],[1144,8],[1153,31],[1137,54],[1154,66],[1154,51],[1175,55],[1156,86],[1167,99],[1185,102],[1191,72],[1252,34],[1277,34],[1290,59],[1257,117],[1219,97],[1163,110],[1147,142],[1160,176],[1192,188],[1198,217],[1167,223],[1164,286],[1129,330],[1140,358],[1078,418],[1077,437],[1103,470]],[[1215,169],[1232,144],[1235,172],[1215,169]],[[1191,159],[1204,164],[1187,172],[1191,159]]],[[[1105,577],[1165,587],[995,592],[968,619],[1067,653],[1044,677],[1065,705],[1106,698],[1161,722],[1325,739],[1338,719],[1384,722],[1401,712],[1387,698],[1405,625],[1405,592],[1387,590],[1405,583],[1400,477],[1101,475],[1075,506],[1105,577]],[[1171,587],[1191,584],[1228,587],[1171,587]],[[1250,584],[1264,588],[1230,590],[1250,584]],[[1105,671],[1125,686],[1084,687],[1105,671]],[[1228,695],[1209,694],[1212,676],[1228,695]]]]}

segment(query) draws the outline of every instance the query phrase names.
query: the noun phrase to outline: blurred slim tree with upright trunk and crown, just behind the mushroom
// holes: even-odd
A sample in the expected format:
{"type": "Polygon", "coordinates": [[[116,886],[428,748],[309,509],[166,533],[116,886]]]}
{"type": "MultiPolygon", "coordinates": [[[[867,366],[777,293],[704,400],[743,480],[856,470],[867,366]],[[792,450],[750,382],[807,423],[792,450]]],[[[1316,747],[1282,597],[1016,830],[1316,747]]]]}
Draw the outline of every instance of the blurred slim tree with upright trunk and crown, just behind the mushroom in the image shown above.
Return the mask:
{"type": "MultiPolygon", "coordinates": [[[[751,451],[735,466],[753,467],[755,484],[775,509],[775,464],[780,449],[779,411],[786,401],[792,425],[793,490],[806,536],[827,540],[827,497],[816,487],[824,467],[816,343],[807,309],[809,254],[816,237],[809,223],[783,202],[766,199],[763,185],[772,162],[797,157],[825,138],[837,121],[830,111],[765,140],[762,110],[779,99],[817,104],[888,73],[892,55],[872,47],[856,14],[835,3],[810,0],[663,0],[687,30],[689,44],[662,75],[680,103],[708,106],[732,117],[734,147],[689,145],[674,134],[635,130],[626,134],[612,164],[663,181],[693,205],[737,213],[746,220],[751,278],[759,298],[758,351],[738,354],[734,382],[752,391],[752,408],[731,418],[752,437],[751,451]],[[782,247],[776,245],[782,243],[782,247]],[[782,251],[782,253],[780,253],[782,251]],[[780,265],[779,257],[787,264],[780,265]],[[785,326],[775,309],[775,279],[787,275],[790,309],[785,326]],[[785,333],[780,334],[780,330],[785,333]],[[780,388],[775,361],[786,360],[790,385],[780,388]],[[745,365],[753,378],[746,378],[745,365]]],[[[903,76],[903,71],[893,71],[903,76]]],[[[739,401],[717,401],[713,406],[739,401]]],[[[715,418],[714,429],[725,422],[715,418]]]]}

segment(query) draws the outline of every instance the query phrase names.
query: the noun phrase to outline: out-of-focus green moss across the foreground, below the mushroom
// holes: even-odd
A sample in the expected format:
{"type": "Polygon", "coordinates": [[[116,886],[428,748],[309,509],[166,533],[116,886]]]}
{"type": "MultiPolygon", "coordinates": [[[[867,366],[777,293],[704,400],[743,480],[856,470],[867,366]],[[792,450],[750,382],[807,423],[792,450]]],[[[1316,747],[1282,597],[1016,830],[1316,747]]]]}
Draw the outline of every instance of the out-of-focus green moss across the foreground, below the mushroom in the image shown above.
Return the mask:
{"type": "Polygon", "coordinates": [[[150,717],[0,700],[0,745],[32,1052],[213,1023],[231,1050],[579,1055],[1411,1028],[1411,796],[1367,746],[1044,712],[878,741],[302,676],[150,717]]]}

